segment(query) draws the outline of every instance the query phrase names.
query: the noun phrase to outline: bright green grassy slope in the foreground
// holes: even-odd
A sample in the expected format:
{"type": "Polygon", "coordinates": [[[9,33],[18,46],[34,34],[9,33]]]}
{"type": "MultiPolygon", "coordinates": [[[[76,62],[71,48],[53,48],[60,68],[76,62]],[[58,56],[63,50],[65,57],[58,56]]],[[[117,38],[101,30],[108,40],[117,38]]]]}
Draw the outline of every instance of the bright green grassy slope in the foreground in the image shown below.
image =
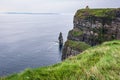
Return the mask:
{"type": "Polygon", "coordinates": [[[27,69],[1,80],[119,80],[120,41],[105,42],[62,63],[27,69]]]}

